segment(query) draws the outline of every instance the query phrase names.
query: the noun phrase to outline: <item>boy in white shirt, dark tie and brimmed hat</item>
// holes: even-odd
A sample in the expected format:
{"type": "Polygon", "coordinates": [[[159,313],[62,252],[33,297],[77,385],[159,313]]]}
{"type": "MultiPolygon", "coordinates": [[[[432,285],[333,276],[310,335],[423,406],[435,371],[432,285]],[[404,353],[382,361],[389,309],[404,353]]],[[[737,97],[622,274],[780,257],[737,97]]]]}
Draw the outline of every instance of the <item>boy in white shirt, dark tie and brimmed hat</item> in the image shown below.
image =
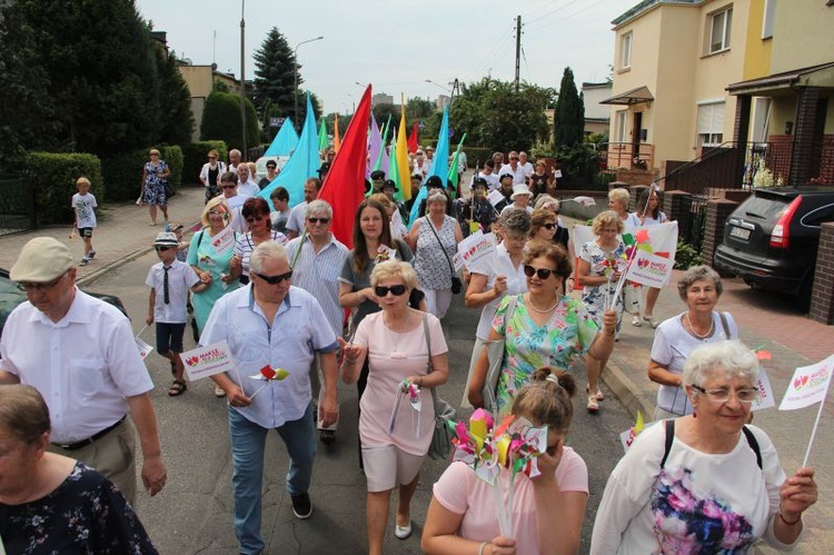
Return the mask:
{"type": "Polygon", "coordinates": [[[176,234],[162,231],[153,241],[153,247],[161,261],[151,266],[145,280],[145,285],[150,287],[145,323],[148,326],[157,323],[157,351],[171,361],[173,385],[168,389],[168,395],[176,397],[187,389],[180,354],[188,320],[188,290],[200,293],[209,285],[200,281],[189,265],[177,260],[179,240],[176,234]]]}

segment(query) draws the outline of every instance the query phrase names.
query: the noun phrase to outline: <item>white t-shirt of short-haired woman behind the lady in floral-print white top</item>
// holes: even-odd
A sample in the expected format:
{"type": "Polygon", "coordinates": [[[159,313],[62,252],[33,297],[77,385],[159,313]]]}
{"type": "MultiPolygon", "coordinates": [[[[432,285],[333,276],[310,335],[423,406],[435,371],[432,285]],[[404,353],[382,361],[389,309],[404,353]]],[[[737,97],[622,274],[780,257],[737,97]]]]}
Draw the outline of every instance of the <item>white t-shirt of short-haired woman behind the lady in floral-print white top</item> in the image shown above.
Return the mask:
{"type": "MultiPolygon", "coordinates": [[[[721,323],[721,316],[713,310],[713,335],[706,339],[698,339],[689,334],[683,324],[683,317],[686,313],[664,320],[655,330],[655,341],[652,345],[652,360],[667,367],[673,374],[684,373],[684,363],[695,348],[709,343],[718,343],[726,339],[737,339],[738,328],[729,313],[723,313],[727,319],[729,337],[724,333],[724,325],[721,323]]],[[[657,406],[667,413],[676,415],[688,415],[692,413],[686,392],[683,387],[661,386],[657,390],[657,406]]]]}

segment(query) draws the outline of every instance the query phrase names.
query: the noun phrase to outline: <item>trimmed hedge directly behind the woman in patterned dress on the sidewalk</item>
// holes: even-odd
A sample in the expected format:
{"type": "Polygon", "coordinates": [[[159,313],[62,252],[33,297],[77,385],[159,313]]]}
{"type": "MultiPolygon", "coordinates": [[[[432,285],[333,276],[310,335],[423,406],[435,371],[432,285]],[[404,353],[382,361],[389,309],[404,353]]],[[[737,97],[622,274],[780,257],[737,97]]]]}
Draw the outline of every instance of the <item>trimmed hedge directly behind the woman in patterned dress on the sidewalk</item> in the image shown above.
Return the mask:
{"type": "MultiPolygon", "coordinates": [[[[142,180],[142,168],[148,161],[149,148],[101,160],[101,174],[109,201],[136,200],[142,180]]],[[[171,177],[168,182],[177,190],[182,179],[182,149],[178,146],[159,147],[160,158],[168,163],[171,177]]]]}

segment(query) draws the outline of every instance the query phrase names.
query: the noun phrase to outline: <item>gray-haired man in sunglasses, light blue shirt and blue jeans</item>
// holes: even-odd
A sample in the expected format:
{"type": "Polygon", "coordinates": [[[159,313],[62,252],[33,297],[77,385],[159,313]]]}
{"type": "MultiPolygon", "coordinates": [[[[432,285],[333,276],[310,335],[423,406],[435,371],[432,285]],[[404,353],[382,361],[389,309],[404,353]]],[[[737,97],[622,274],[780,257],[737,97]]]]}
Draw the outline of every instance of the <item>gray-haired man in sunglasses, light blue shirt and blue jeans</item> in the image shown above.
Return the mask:
{"type": "MultiPolygon", "coordinates": [[[[270,429],[289,453],[287,493],[298,518],[312,514],[308,489],[316,456],[310,364],[321,359],[325,393],[318,416],[336,422],[336,334],[309,293],[291,285],[286,249],[258,245],[249,259],[249,285],[222,296],[211,309],[200,345],[226,340],[236,368],[211,379],[227,395],[235,495],[234,523],[240,553],[261,553],[264,447],[270,429]]],[[[338,338],[344,343],[344,339],[338,338]]]]}

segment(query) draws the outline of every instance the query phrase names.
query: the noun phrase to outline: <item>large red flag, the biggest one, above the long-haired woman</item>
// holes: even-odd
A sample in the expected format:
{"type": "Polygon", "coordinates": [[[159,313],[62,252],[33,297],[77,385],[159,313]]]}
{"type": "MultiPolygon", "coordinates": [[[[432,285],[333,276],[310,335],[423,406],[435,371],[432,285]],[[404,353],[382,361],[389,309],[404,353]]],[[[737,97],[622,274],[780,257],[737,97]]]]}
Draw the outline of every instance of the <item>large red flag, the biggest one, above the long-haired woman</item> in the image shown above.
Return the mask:
{"type": "Polygon", "coordinates": [[[365,172],[368,161],[368,121],[370,85],[365,89],[354,118],[345,130],[341,148],[327,172],[318,198],[332,207],[332,235],[347,248],[354,248],[354,217],[365,198],[365,172]]]}

